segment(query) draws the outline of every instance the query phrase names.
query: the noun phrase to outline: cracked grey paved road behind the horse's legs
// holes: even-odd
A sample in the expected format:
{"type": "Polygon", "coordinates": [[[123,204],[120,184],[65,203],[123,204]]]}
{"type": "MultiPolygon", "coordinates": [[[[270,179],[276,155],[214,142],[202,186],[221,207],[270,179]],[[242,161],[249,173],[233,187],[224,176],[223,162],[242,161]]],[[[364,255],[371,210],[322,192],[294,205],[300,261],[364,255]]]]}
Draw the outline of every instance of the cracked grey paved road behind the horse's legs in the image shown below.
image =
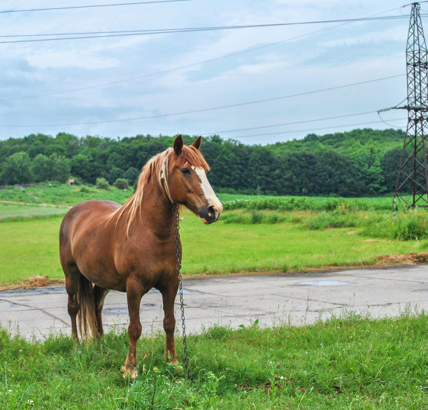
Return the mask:
{"type": "MultiPolygon", "coordinates": [[[[187,333],[211,325],[304,325],[346,311],[373,318],[397,316],[411,306],[428,311],[428,266],[187,279],[187,333]]],[[[70,334],[67,295],[60,286],[0,292],[0,323],[27,338],[70,334]]],[[[162,328],[162,297],[152,290],[141,301],[143,334],[162,328]]],[[[105,329],[127,327],[126,296],[110,292],[103,311],[105,329]]],[[[181,329],[179,298],[177,329],[181,329]]]]}

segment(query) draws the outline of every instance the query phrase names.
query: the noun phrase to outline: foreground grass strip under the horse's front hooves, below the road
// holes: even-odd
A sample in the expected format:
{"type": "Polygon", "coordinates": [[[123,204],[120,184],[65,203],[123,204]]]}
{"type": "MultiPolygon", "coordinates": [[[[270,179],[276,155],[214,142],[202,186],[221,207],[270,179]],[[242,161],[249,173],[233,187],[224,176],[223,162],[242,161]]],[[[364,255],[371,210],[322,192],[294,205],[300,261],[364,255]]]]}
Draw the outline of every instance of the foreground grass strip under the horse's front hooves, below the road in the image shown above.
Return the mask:
{"type": "MultiPolygon", "coordinates": [[[[191,377],[165,365],[164,336],[138,342],[140,376],[122,379],[127,334],[77,346],[0,332],[2,409],[423,409],[428,318],[348,314],[305,327],[212,327],[188,338],[191,377]],[[145,372],[143,371],[143,365],[145,372]]],[[[178,355],[183,355],[180,340],[178,355]]]]}

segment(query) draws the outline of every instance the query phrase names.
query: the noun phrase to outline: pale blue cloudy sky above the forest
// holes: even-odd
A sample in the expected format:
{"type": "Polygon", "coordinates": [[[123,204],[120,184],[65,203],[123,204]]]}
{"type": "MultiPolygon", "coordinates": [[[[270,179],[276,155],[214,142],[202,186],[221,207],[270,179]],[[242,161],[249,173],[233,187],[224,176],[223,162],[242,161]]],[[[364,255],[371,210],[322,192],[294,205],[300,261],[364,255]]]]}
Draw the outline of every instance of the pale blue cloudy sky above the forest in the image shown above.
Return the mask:
{"type": "MultiPolygon", "coordinates": [[[[176,0],[10,13],[125,2],[136,0],[0,2],[0,139],[217,134],[264,145],[406,129],[405,110],[377,112],[406,101],[406,2],[176,0]],[[373,16],[402,18],[320,23],[373,16]],[[260,24],[271,25],[40,41],[260,24]]],[[[422,25],[428,33],[427,17],[422,25]]]]}

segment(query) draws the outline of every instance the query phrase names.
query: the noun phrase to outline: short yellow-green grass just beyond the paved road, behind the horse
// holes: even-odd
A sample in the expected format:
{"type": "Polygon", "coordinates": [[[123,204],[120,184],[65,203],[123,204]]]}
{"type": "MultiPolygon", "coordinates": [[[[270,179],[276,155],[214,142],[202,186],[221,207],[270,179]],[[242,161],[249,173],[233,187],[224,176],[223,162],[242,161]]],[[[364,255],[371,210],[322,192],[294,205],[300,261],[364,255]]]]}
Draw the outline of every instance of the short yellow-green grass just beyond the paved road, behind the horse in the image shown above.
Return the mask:
{"type": "MultiPolygon", "coordinates": [[[[237,224],[221,220],[206,226],[185,211],[180,222],[183,274],[308,271],[313,268],[366,266],[378,256],[421,253],[428,241],[367,237],[349,227],[304,229],[311,213],[292,213],[288,222],[237,224]],[[309,217],[308,217],[309,215],[309,217]],[[300,221],[300,222],[299,222],[300,221]]],[[[30,276],[64,278],[59,264],[58,232],[62,218],[0,223],[0,283],[30,276]]]]}

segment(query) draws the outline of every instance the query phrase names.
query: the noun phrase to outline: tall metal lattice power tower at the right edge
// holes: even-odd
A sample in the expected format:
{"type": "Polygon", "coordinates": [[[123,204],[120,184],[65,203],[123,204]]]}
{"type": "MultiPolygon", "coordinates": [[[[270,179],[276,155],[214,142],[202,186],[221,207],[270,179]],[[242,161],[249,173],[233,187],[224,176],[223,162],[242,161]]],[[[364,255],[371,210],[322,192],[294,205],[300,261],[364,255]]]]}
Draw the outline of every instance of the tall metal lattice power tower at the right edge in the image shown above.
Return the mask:
{"type": "Polygon", "coordinates": [[[420,20],[420,4],[413,3],[408,28],[407,105],[408,122],[394,192],[406,206],[428,207],[428,57],[424,31],[420,20]],[[410,195],[410,197],[409,197],[410,195]]]}

